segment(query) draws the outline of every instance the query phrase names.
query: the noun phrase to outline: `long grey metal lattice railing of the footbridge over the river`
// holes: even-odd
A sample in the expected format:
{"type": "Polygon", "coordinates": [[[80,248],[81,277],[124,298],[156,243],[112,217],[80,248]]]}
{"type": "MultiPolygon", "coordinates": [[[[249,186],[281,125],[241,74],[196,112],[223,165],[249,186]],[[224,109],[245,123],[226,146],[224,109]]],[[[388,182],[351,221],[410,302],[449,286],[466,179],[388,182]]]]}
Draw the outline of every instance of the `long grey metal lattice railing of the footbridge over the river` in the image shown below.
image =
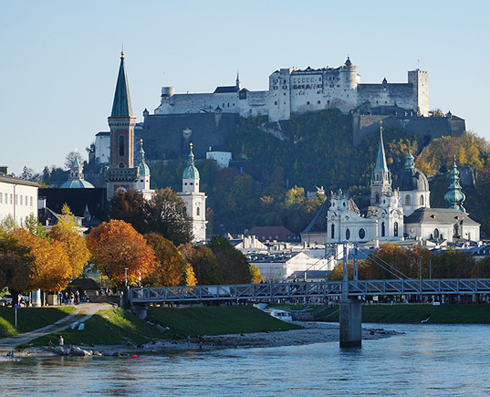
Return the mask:
{"type": "MultiPolygon", "coordinates": [[[[490,294],[490,279],[350,280],[347,287],[348,296],[490,294]]],[[[341,281],[130,288],[132,304],[341,296],[341,281]]]]}

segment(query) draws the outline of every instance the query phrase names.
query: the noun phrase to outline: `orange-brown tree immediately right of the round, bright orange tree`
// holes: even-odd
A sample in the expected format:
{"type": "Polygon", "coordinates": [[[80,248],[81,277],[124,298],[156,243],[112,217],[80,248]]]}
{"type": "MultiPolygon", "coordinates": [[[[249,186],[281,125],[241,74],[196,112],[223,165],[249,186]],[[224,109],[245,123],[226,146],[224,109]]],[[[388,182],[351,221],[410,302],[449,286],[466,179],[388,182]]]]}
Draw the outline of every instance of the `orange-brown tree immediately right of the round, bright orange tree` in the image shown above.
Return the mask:
{"type": "Polygon", "coordinates": [[[151,233],[144,238],[156,256],[154,270],[144,278],[144,284],[158,287],[195,286],[196,278],[191,266],[171,241],[151,233]]]}

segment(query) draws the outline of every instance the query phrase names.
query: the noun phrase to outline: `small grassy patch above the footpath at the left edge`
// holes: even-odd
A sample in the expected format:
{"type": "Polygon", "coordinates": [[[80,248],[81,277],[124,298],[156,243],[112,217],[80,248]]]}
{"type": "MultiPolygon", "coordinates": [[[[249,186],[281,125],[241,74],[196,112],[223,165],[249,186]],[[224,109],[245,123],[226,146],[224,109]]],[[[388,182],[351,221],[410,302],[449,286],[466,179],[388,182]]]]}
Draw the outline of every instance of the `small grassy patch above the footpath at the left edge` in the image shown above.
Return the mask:
{"type": "Polygon", "coordinates": [[[75,308],[0,308],[0,338],[41,329],[68,316],[75,308]]]}

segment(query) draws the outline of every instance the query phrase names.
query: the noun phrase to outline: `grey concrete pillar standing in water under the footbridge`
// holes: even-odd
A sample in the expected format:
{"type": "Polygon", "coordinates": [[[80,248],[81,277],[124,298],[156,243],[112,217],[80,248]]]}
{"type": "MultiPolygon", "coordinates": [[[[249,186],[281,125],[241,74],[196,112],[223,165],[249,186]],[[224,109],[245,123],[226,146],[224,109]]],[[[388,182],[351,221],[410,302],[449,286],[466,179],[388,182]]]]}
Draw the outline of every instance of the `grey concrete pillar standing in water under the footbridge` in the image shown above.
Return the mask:
{"type": "Polygon", "coordinates": [[[360,348],[361,346],[361,308],[358,298],[340,300],[340,347],[360,348]]]}

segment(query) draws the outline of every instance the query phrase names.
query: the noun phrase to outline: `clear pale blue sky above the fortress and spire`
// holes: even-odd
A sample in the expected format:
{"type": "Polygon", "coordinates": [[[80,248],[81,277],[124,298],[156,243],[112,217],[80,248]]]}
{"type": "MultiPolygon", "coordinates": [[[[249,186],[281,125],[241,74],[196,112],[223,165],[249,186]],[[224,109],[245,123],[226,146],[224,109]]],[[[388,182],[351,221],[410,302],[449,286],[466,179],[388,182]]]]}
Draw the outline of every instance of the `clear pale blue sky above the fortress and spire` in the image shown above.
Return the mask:
{"type": "Polygon", "coordinates": [[[279,68],[338,68],[361,83],[429,73],[431,109],[490,141],[490,2],[0,0],[0,165],[63,167],[108,120],[124,45],[132,109],[176,93],[268,89],[279,68]],[[420,61],[419,61],[420,60],[420,61]]]}

